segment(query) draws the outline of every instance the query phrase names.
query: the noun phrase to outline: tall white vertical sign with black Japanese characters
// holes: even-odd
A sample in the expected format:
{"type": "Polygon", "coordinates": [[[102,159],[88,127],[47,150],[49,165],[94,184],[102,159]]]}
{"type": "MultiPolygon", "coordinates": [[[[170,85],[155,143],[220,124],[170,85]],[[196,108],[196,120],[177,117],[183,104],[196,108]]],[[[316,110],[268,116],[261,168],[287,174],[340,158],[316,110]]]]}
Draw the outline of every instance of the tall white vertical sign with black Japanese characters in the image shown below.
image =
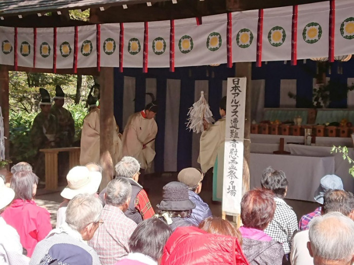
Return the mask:
{"type": "Polygon", "coordinates": [[[246,77],[227,78],[222,211],[228,215],[241,213],[245,106],[246,77]]]}

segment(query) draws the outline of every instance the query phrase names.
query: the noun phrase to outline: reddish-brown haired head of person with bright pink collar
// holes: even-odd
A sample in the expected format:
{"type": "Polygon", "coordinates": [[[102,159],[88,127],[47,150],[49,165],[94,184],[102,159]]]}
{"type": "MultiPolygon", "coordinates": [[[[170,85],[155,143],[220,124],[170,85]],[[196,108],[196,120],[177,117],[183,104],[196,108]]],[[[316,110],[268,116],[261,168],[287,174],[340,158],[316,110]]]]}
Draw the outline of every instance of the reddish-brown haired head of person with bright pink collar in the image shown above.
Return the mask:
{"type": "Polygon", "coordinates": [[[274,194],[269,190],[254,189],[241,200],[241,219],[245,227],[264,230],[276,212],[274,194]]]}

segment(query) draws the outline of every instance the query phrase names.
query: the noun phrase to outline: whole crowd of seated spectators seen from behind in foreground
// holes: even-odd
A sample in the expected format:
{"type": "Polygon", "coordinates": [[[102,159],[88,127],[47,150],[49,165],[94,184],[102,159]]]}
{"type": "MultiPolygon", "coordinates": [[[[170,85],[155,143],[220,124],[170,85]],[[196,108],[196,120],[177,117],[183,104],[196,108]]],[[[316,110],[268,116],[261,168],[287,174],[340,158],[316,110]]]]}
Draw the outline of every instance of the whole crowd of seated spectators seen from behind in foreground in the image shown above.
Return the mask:
{"type": "Polygon", "coordinates": [[[52,229],[50,213],[34,201],[32,167],[20,162],[11,172],[11,179],[0,175],[0,264],[354,264],[354,195],[336,175],[321,179],[318,207],[298,223],[284,200],[291,189],[285,173],[266,168],[260,188],[242,197],[237,228],[199,196],[197,168],[163,187],[155,213],[135,158],[115,165],[101,193],[102,168],[90,163],[69,170],[52,229]]]}

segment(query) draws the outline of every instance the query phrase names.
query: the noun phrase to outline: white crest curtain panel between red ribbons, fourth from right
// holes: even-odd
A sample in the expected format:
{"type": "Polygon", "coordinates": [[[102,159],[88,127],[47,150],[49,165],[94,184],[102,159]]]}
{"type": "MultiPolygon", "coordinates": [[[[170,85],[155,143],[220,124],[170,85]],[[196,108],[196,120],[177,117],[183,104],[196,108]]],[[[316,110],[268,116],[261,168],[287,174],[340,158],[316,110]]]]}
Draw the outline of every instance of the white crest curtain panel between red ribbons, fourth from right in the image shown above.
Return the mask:
{"type": "Polygon", "coordinates": [[[232,62],[255,62],[258,10],[232,13],[232,62]]]}

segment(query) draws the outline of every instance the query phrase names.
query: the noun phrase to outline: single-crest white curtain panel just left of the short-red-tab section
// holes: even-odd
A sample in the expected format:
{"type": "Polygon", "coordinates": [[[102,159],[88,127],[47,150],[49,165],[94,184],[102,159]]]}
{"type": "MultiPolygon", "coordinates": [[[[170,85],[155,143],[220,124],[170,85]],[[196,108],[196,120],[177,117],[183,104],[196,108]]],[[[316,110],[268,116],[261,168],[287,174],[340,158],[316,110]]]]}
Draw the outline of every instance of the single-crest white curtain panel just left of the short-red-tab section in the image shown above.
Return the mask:
{"type": "Polygon", "coordinates": [[[170,21],[148,23],[148,67],[170,66],[170,21]]]}

